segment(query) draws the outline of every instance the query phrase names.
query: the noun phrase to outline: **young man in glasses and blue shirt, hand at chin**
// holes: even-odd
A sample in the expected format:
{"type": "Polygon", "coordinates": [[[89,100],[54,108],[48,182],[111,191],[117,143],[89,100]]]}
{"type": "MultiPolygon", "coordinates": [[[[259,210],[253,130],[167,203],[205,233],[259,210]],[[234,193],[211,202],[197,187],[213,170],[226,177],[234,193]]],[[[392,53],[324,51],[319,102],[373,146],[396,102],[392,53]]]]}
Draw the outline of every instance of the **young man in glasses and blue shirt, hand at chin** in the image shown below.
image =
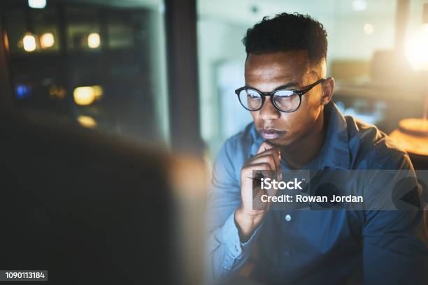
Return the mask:
{"type": "MultiPolygon", "coordinates": [[[[208,200],[211,282],[238,274],[256,243],[251,277],[266,284],[428,282],[420,210],[252,208],[252,170],[413,166],[384,133],[343,117],[331,102],[322,24],[297,13],[264,17],[243,43],[245,87],[236,94],[254,122],[224,143],[215,162],[208,200]]],[[[364,191],[378,187],[373,178],[364,191]]]]}

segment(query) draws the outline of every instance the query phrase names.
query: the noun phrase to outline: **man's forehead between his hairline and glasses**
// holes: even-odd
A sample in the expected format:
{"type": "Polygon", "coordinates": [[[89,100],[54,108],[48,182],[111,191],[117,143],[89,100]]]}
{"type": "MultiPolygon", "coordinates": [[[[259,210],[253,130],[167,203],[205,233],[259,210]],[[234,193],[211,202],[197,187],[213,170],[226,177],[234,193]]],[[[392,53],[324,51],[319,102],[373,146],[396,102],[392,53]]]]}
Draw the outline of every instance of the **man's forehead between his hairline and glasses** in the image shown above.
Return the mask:
{"type": "Polygon", "coordinates": [[[247,84],[302,82],[310,71],[308,54],[304,50],[249,54],[245,61],[247,84]]]}

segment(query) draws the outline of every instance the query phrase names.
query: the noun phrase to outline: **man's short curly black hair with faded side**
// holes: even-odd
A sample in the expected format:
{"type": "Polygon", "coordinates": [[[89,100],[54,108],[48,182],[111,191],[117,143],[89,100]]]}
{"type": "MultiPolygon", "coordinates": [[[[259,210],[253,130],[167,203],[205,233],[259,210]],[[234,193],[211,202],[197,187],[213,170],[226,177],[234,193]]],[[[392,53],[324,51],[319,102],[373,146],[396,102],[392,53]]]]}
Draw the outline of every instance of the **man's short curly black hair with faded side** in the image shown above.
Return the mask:
{"type": "Polygon", "coordinates": [[[309,15],[280,13],[247,30],[242,40],[248,54],[306,50],[309,60],[318,64],[327,58],[327,31],[309,15]]]}

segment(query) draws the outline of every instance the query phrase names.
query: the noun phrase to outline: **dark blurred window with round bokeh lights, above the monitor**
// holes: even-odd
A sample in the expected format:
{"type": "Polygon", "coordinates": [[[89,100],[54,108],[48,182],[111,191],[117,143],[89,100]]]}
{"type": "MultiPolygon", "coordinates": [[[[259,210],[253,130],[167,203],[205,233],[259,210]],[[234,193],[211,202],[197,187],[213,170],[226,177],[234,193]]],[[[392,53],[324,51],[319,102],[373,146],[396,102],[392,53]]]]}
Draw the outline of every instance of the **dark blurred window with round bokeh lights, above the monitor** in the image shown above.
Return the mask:
{"type": "Polygon", "coordinates": [[[15,104],[167,143],[162,5],[51,0],[36,9],[1,1],[15,104]]]}

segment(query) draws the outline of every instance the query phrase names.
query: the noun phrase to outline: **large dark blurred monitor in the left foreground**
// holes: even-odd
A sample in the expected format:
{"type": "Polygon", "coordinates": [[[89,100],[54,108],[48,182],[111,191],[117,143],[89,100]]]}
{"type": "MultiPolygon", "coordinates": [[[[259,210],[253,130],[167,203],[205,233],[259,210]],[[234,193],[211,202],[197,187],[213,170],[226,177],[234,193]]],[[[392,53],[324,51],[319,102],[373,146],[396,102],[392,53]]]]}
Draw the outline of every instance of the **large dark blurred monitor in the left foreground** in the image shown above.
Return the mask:
{"type": "Polygon", "coordinates": [[[185,266],[200,264],[197,222],[170,183],[173,159],[41,116],[0,114],[1,270],[48,270],[50,284],[180,284],[185,266]],[[185,254],[184,235],[193,244],[185,254]]]}

